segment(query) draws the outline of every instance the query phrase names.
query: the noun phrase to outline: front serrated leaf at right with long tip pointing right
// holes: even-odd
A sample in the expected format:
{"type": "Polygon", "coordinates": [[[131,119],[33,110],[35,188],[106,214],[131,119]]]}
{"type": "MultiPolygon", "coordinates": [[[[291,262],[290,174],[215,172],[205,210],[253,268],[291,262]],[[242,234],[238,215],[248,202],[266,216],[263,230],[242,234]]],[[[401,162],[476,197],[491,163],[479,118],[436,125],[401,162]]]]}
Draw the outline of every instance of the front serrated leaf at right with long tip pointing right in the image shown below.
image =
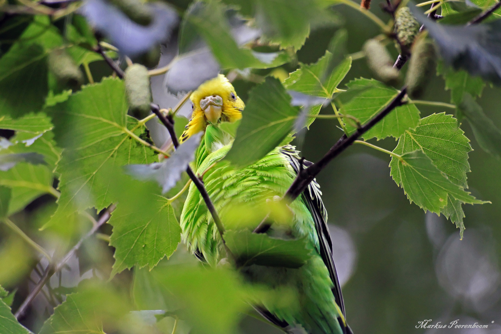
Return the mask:
{"type": "Polygon", "coordinates": [[[390,175],[404,189],[407,198],[423,210],[440,213],[447,205],[447,196],[470,204],[483,204],[461,187],[455,185],[436,168],[422,150],[402,154],[403,161],[391,164],[390,175]]]}

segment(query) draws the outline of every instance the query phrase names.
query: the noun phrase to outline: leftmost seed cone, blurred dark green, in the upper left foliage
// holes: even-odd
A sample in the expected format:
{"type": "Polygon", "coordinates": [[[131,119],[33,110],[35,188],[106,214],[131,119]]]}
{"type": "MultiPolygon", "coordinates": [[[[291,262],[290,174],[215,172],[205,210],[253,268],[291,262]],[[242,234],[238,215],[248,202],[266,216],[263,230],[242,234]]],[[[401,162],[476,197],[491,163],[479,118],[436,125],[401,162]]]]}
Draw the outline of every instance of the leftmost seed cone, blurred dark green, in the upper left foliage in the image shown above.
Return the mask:
{"type": "Polygon", "coordinates": [[[64,49],[52,51],[47,62],[49,70],[56,77],[58,84],[73,90],[80,88],[84,80],[82,71],[64,49]]]}

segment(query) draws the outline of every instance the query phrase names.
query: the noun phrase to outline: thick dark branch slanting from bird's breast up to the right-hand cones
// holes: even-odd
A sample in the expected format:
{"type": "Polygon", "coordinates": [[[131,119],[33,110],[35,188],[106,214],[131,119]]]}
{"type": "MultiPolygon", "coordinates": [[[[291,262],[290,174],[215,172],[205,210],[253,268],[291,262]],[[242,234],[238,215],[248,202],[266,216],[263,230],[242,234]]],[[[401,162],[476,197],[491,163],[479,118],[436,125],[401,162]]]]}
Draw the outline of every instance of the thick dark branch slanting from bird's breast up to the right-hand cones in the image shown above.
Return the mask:
{"type": "Polygon", "coordinates": [[[325,154],[325,156],[318,162],[314,163],[310,167],[303,169],[297,176],[296,180],[292,183],[289,190],[287,190],[286,198],[289,201],[295,200],[301,193],[308,187],[310,182],[341,152],[346,150],[348,146],[353,144],[361,135],[369,131],[374,125],[376,125],[380,120],[382,120],[386,115],[388,115],[393,109],[403,104],[402,99],[407,92],[407,87],[403,87],[400,93],[384,108],[379,114],[377,114],[372,120],[370,120],[364,126],[358,128],[350,137],[343,135],[336,144],[325,154]]]}

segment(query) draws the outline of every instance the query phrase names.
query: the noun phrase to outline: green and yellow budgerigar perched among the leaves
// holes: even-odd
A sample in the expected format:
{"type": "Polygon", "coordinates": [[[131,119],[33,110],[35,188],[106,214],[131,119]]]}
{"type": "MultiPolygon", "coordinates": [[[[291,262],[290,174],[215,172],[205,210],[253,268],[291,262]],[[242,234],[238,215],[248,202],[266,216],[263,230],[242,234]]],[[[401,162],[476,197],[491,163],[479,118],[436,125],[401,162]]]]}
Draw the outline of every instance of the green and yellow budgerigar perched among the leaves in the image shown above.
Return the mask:
{"type": "MultiPolygon", "coordinates": [[[[218,130],[218,124],[239,120],[244,108],[244,103],[223,75],[203,83],[190,99],[193,113],[180,141],[205,131],[194,167],[197,175],[203,175],[204,185],[218,212],[224,214],[229,207],[273,200],[274,196],[287,191],[301,161],[293,146],[277,147],[245,168],[217,164],[229,151],[232,139],[218,130]]],[[[350,333],[332,260],[327,213],[320,195],[318,184],[313,182],[301,197],[289,204],[292,211],[289,221],[280,226],[272,224],[266,231],[270,236],[285,239],[306,236],[308,246],[313,250],[313,256],[306,264],[299,268],[253,264],[239,270],[248,282],[271,289],[292,289],[297,296],[299,307],[267,300],[256,306],[273,323],[288,330],[303,327],[310,334],[350,333]]],[[[194,184],[189,188],[180,224],[184,241],[199,258],[215,265],[225,256],[218,230],[194,184]]],[[[254,227],[241,226],[242,229],[254,227]]],[[[238,224],[232,228],[238,228],[238,224]]]]}

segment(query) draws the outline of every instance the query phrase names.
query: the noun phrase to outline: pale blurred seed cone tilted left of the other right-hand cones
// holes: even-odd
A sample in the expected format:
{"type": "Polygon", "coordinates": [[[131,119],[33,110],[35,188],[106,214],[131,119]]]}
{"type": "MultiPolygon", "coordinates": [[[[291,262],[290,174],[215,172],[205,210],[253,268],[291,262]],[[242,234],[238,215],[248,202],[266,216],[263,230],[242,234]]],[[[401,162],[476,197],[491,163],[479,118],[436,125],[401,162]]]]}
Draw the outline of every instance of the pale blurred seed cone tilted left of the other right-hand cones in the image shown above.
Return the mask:
{"type": "Polygon", "coordinates": [[[393,68],[393,60],[381,43],[372,39],[365,42],[363,51],[367,65],[384,82],[397,80],[399,72],[393,68]]]}

